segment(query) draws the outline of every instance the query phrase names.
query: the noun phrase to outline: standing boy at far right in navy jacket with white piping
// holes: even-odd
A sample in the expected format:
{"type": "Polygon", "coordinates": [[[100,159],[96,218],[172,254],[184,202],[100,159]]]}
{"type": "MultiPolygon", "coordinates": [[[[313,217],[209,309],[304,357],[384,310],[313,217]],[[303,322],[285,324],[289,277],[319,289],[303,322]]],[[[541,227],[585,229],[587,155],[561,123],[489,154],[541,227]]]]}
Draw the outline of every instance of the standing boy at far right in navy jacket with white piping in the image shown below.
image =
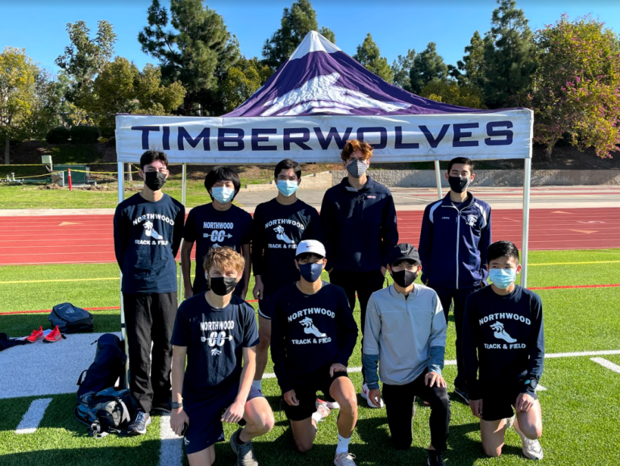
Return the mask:
{"type": "Polygon", "coordinates": [[[461,330],[467,296],[486,285],[486,250],[491,243],[490,205],[476,199],[467,188],[475,179],[470,159],[457,157],[448,163],[450,192],[426,206],[420,232],[422,282],[442,301],[446,322],[454,303],[457,376],[454,392],[468,401],[463,376],[461,330]]]}

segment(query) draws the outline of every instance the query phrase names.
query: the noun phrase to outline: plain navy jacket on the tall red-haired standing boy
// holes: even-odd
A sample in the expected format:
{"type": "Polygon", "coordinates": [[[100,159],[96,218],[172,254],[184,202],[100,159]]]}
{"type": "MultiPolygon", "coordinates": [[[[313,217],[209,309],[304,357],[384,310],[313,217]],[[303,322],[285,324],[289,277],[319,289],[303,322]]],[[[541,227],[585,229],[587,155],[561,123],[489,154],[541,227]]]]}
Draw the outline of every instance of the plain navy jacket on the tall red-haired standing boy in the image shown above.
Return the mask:
{"type": "Polygon", "coordinates": [[[388,263],[398,230],[394,199],[384,185],[369,176],[358,191],[344,178],[325,192],[320,216],[328,270],[370,272],[388,263]]]}

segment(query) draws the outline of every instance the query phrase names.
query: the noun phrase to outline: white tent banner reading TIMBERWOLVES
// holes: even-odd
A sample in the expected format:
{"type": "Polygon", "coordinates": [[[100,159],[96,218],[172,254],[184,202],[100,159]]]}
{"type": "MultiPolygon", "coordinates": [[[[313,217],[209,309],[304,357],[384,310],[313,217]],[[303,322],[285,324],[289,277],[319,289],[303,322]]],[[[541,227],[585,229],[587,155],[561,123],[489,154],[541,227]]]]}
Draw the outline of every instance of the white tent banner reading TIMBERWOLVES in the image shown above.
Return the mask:
{"type": "Polygon", "coordinates": [[[171,163],[340,161],[347,139],[374,145],[373,162],[528,159],[533,112],[402,116],[308,117],[116,116],[118,161],[137,163],[145,150],[163,150],[171,163]]]}

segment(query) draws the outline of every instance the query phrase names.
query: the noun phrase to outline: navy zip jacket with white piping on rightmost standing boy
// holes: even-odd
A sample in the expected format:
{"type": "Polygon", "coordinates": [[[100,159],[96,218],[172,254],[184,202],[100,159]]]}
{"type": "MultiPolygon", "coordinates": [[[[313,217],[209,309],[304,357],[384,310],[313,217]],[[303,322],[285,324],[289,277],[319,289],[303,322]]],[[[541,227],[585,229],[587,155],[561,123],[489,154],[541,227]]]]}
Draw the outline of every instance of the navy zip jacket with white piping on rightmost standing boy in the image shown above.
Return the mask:
{"type": "Polygon", "coordinates": [[[449,193],[426,206],[418,247],[424,283],[452,289],[486,284],[490,214],[490,205],[472,194],[459,207],[449,193]]]}

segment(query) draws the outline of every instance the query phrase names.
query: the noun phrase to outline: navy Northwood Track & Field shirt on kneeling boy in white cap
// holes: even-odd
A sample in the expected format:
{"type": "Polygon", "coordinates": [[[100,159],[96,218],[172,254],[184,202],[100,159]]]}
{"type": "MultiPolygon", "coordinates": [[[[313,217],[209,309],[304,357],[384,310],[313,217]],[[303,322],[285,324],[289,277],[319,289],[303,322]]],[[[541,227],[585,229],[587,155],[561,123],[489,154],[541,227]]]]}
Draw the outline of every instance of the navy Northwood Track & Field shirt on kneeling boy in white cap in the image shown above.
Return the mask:
{"type": "Polygon", "coordinates": [[[311,382],[318,369],[349,364],[358,340],[358,325],[344,290],[323,281],[315,294],[291,283],[274,296],[271,358],[282,393],[311,382]]]}

